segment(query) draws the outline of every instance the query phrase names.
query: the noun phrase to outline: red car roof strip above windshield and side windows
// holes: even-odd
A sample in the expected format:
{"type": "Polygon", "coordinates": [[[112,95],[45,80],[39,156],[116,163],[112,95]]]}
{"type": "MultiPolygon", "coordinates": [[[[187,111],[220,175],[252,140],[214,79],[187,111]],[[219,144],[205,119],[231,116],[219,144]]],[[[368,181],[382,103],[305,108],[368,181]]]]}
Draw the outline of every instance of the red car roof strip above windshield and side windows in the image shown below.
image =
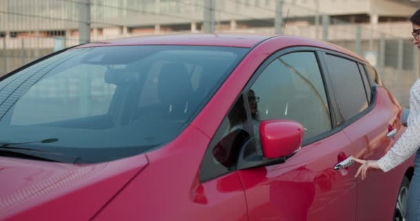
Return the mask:
{"type": "Polygon", "coordinates": [[[316,48],[324,48],[341,52],[345,55],[355,57],[362,61],[366,61],[363,57],[356,53],[330,44],[329,42],[309,39],[298,36],[287,35],[253,35],[253,34],[165,34],[165,35],[143,35],[137,37],[127,37],[122,39],[112,39],[106,41],[93,41],[88,44],[82,44],[75,48],[90,48],[104,46],[142,46],[142,45],[175,45],[175,46],[225,46],[238,48],[252,48],[262,41],[270,38],[280,38],[286,41],[283,46],[285,48],[292,46],[311,46],[316,48]]]}

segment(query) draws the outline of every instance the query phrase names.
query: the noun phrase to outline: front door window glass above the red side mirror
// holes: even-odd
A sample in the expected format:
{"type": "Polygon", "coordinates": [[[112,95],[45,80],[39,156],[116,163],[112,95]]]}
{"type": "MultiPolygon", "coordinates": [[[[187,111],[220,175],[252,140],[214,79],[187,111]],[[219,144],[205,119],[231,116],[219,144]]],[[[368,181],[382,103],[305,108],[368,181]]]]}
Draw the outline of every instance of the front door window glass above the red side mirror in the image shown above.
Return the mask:
{"type": "Polygon", "coordinates": [[[251,90],[258,97],[254,107],[258,121],[292,119],[300,122],[305,128],[304,140],[332,128],[323,78],[314,52],[293,52],[274,59],[251,90]]]}

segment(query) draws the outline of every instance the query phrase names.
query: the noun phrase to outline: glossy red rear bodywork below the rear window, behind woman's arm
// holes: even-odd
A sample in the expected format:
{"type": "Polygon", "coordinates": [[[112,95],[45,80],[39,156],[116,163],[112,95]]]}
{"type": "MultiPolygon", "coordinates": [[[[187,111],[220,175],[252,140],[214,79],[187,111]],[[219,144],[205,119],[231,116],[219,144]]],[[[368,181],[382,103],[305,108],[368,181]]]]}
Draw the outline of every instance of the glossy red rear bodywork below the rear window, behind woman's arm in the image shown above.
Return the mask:
{"type": "MultiPolygon", "coordinates": [[[[401,125],[401,111],[394,97],[379,87],[372,111],[343,130],[354,144],[354,155],[377,160],[385,154],[405,131],[401,125]],[[390,125],[399,131],[394,137],[386,136],[390,125]]],[[[413,157],[388,173],[370,171],[365,180],[359,178],[356,220],[389,220],[394,213],[399,185],[412,162],[413,157]]]]}

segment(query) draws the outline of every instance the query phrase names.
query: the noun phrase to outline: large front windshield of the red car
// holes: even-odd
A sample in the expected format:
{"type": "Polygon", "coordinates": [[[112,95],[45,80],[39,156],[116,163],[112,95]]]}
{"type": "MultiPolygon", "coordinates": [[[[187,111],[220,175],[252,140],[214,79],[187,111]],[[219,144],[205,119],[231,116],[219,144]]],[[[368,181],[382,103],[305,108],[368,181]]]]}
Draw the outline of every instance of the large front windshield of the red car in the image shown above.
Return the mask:
{"type": "Polygon", "coordinates": [[[0,143],[104,162],[173,140],[248,48],[67,50],[0,81],[0,143]],[[37,142],[57,139],[56,142],[37,142]]]}

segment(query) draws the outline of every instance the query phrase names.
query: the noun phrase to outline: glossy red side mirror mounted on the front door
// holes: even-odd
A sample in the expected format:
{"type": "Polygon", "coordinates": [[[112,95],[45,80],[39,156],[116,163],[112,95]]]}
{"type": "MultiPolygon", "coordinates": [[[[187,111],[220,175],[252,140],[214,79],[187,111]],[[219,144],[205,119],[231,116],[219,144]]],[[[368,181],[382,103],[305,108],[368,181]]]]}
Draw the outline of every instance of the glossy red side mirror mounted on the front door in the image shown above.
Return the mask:
{"type": "Polygon", "coordinates": [[[273,119],[260,123],[262,152],[267,158],[291,155],[303,142],[303,126],[288,119],[273,119]]]}

